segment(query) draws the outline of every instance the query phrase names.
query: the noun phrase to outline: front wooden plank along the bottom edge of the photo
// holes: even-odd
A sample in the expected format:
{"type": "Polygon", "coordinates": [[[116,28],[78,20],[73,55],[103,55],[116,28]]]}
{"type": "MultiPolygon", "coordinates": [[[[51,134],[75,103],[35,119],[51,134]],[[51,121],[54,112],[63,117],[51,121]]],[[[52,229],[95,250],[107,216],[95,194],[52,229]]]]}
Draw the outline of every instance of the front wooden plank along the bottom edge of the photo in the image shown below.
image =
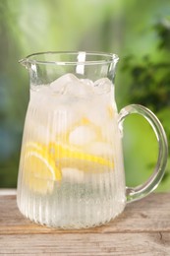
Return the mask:
{"type": "Polygon", "coordinates": [[[0,235],[0,255],[168,256],[170,233],[0,235]]]}

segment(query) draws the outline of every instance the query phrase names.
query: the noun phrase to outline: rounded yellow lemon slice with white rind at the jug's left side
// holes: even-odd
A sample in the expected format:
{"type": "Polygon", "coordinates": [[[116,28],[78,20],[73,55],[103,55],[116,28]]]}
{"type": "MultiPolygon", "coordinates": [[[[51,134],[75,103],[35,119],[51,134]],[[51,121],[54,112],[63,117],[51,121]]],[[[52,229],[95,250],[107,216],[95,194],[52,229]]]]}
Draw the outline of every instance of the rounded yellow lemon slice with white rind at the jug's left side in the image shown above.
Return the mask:
{"type": "Polygon", "coordinates": [[[32,142],[25,148],[24,176],[31,190],[46,193],[53,190],[55,180],[61,179],[61,171],[46,147],[32,142]]]}

